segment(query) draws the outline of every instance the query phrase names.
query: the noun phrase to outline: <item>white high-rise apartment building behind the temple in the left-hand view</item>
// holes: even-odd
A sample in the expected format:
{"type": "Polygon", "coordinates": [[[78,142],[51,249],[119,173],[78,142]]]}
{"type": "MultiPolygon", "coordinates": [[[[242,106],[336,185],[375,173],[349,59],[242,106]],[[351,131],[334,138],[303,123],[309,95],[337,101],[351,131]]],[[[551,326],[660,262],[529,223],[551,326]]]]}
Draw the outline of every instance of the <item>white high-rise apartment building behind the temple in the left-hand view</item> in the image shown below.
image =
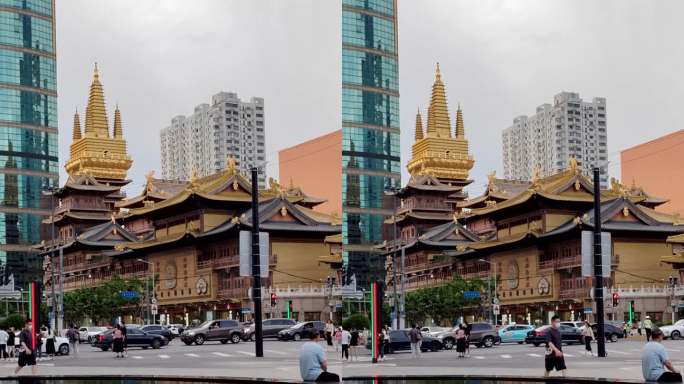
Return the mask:
{"type": "MultiPolygon", "coordinates": [[[[162,177],[189,180],[193,168],[198,176],[207,176],[224,169],[231,156],[249,175],[252,166],[264,165],[264,121],[264,99],[252,97],[245,102],[233,92],[215,94],[211,105],[200,104],[192,115],[176,116],[161,130],[162,177]]],[[[261,171],[262,188],[265,177],[261,171]]]]}

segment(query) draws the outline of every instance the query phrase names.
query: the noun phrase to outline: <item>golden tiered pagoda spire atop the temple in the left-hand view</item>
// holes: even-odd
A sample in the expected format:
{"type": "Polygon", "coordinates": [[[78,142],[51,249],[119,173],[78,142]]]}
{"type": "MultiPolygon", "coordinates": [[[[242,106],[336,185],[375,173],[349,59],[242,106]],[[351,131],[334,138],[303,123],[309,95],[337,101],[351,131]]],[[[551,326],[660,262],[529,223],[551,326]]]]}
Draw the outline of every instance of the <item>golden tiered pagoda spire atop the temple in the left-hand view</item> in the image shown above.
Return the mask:
{"type": "Polygon", "coordinates": [[[67,173],[86,173],[99,179],[125,181],[133,161],[126,152],[118,107],[114,116],[114,135],[109,135],[104,91],[97,65],[90,85],[85,119],[85,131],[81,135],[78,113],[74,116],[71,156],[64,166],[67,173]]]}

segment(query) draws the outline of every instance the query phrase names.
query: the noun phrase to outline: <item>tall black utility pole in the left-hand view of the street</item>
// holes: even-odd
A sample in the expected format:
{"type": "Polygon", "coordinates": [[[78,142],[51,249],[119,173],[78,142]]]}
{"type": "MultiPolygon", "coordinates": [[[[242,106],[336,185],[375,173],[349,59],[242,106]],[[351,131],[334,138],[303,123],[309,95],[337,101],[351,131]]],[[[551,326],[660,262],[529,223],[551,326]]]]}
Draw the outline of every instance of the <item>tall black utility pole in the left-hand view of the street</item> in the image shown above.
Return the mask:
{"type": "Polygon", "coordinates": [[[259,265],[259,170],[252,167],[252,297],[254,298],[254,332],[256,357],[264,357],[261,324],[261,266],[259,265]]]}

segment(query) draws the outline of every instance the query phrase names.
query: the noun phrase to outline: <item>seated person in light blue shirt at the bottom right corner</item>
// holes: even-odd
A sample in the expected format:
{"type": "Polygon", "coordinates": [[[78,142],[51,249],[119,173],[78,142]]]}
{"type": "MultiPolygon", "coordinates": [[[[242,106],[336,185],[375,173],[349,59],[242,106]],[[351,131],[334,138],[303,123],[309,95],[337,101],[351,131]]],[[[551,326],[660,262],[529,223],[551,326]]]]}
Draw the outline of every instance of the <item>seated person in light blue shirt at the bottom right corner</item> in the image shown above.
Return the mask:
{"type": "Polygon", "coordinates": [[[652,330],[650,336],[653,341],[646,343],[641,353],[641,373],[644,379],[649,382],[681,383],[682,373],[672,365],[663,347],[663,331],[652,330]]]}

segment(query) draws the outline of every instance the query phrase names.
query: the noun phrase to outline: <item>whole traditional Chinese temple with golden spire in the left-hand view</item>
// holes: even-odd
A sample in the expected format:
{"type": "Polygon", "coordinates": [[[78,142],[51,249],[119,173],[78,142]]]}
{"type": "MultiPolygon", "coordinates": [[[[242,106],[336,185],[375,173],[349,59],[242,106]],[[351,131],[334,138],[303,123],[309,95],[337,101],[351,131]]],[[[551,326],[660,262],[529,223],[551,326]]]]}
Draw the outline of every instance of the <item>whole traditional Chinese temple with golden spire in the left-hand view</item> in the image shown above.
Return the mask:
{"type": "MultiPolygon", "coordinates": [[[[76,115],[69,179],[53,193],[56,208],[45,222],[56,233],[40,246],[46,256],[45,291],[60,275],[65,292],[100,285],[114,275],[152,278],[165,321],[249,318],[251,280],[239,274],[239,233],[252,228],[252,186],[235,161],[189,182],[149,173],[141,194],[126,198],[121,187],[129,183],[132,161],[118,108],[110,134],[97,69],[85,125],[81,132],[76,115]]],[[[258,201],[260,231],[270,240],[269,274],[262,278],[264,313],[282,316],[292,301],[296,318],[327,319],[334,302],[325,284],[341,268],[339,218],[313,210],[325,199],[272,179],[258,201]],[[271,292],[278,295],[274,307],[271,292]]]]}

